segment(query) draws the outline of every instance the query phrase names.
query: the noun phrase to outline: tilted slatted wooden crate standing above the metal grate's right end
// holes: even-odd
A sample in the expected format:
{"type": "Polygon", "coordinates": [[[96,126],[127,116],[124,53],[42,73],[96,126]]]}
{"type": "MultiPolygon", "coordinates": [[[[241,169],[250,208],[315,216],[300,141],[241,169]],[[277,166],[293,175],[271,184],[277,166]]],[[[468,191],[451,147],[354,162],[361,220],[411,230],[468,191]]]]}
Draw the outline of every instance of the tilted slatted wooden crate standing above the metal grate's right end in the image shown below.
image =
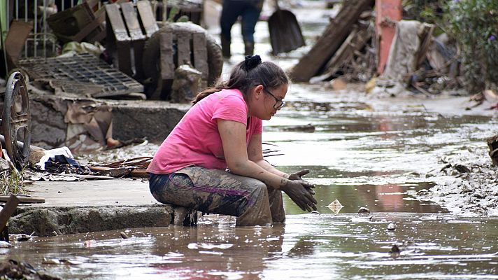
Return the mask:
{"type": "Polygon", "coordinates": [[[113,56],[113,63],[128,76],[142,80],[143,46],[159,29],[150,1],[137,1],[136,6],[132,2],[108,3],[105,9],[106,48],[113,56]]]}

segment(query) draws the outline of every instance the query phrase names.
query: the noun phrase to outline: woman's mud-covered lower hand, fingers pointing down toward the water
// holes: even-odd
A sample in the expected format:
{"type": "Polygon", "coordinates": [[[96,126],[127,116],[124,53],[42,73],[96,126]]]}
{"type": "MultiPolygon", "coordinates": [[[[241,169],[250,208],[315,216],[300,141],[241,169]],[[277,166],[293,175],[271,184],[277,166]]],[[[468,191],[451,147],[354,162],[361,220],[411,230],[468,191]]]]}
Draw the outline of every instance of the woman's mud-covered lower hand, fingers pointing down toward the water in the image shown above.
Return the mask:
{"type": "Polygon", "coordinates": [[[302,180],[289,180],[281,190],[303,211],[311,212],[316,211],[317,202],[313,197],[314,192],[310,189],[310,185],[310,183],[302,180]]]}

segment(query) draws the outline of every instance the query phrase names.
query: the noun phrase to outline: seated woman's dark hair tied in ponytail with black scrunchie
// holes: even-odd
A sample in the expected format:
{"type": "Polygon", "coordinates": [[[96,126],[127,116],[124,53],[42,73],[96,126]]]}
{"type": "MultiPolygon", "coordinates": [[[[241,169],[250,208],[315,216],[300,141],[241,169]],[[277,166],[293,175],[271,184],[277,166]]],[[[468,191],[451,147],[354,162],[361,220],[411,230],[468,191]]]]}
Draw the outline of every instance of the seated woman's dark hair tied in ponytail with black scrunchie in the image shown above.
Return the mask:
{"type": "Polygon", "coordinates": [[[289,83],[289,78],[280,66],[273,62],[261,62],[259,55],[248,55],[243,62],[234,66],[228,80],[221,81],[214,87],[199,92],[192,104],[197,104],[209,94],[225,89],[238,89],[242,92],[244,99],[248,100],[247,94],[251,87],[263,85],[272,90],[287,83],[289,83]]]}

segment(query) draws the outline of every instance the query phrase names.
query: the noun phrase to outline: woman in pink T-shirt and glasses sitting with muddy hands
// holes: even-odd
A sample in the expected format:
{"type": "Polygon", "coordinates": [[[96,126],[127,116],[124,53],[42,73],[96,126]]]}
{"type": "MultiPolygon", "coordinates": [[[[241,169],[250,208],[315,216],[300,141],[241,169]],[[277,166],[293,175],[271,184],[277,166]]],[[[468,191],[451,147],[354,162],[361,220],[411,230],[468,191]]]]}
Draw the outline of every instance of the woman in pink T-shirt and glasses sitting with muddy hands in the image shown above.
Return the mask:
{"type": "Polygon", "coordinates": [[[259,55],[197,95],[150,162],[150,192],[162,203],[236,216],[237,226],[283,223],[282,192],[316,210],[307,170],[285,174],[263,158],[262,120],[283,106],[289,79],[259,55]],[[227,170],[228,168],[228,170],[227,170]]]}

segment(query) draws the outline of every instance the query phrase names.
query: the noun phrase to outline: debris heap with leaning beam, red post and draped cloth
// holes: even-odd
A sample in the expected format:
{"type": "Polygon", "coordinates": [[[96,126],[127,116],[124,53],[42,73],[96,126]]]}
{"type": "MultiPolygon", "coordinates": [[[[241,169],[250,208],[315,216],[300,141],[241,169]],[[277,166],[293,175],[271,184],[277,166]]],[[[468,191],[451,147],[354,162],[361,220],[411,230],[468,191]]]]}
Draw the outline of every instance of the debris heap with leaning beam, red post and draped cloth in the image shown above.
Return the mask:
{"type": "Polygon", "coordinates": [[[461,87],[455,42],[446,34],[434,37],[432,24],[403,20],[401,1],[375,2],[374,12],[372,0],[343,1],[322,36],[292,69],[292,78],[310,83],[339,77],[370,81],[380,92],[394,87],[389,94],[408,89],[429,96],[461,87]]]}

